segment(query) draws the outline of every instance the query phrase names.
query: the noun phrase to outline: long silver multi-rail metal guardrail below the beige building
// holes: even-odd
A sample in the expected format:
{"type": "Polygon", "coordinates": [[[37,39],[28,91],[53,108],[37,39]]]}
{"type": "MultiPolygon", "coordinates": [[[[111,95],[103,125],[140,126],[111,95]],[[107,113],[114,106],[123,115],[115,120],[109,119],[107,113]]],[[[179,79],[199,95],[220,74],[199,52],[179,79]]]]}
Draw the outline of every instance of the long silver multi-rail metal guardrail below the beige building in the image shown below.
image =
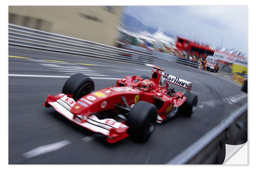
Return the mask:
{"type": "Polygon", "coordinates": [[[153,63],[155,57],[132,50],[58,35],[9,23],[9,44],[129,63],[153,63]]]}

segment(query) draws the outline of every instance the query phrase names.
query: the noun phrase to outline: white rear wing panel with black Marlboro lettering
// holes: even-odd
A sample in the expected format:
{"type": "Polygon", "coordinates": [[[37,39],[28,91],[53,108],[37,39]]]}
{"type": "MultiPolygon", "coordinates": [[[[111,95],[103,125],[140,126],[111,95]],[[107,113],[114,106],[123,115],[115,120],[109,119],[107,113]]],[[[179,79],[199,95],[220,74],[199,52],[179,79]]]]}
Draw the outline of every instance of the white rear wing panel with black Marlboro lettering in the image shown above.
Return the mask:
{"type": "Polygon", "coordinates": [[[192,88],[193,83],[188,82],[186,80],[180,79],[176,76],[169,75],[165,72],[161,72],[161,75],[165,79],[165,81],[170,82],[172,84],[175,84],[177,86],[183,87],[186,89],[186,91],[190,91],[192,88]]]}

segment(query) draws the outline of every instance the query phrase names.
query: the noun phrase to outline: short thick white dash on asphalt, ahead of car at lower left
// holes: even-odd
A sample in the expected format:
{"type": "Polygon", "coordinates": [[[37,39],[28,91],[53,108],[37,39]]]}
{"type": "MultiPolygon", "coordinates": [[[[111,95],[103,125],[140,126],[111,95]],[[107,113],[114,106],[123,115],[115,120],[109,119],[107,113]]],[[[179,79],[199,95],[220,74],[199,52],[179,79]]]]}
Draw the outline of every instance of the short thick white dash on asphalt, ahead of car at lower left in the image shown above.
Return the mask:
{"type": "Polygon", "coordinates": [[[56,143],[42,145],[42,146],[37,147],[29,152],[24,153],[23,156],[26,158],[32,158],[34,156],[38,156],[38,155],[46,154],[48,152],[53,152],[53,151],[59,150],[70,143],[71,143],[71,141],[69,141],[69,140],[63,140],[63,141],[56,142],[56,143]]]}

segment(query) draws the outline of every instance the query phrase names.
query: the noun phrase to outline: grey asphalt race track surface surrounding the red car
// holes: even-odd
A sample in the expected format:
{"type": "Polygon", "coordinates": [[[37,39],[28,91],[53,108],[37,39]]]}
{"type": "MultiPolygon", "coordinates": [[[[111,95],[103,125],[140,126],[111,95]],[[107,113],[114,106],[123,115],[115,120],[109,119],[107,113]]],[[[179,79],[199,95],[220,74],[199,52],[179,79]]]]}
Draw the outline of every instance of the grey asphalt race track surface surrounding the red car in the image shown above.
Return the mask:
{"type": "Polygon", "coordinates": [[[247,98],[234,104],[223,101],[242,93],[224,72],[213,74],[160,59],[154,64],[193,82],[191,92],[199,100],[196,112],[190,118],[178,116],[158,125],[146,143],[126,138],[109,144],[104,136],[41,104],[49,94],[61,93],[66,77],[75,72],[93,75],[98,90],[115,84],[114,78],[151,76],[151,67],[9,46],[9,164],[165,164],[247,102],[247,98]],[[29,151],[61,141],[68,142],[62,148],[26,157],[29,151]]]}

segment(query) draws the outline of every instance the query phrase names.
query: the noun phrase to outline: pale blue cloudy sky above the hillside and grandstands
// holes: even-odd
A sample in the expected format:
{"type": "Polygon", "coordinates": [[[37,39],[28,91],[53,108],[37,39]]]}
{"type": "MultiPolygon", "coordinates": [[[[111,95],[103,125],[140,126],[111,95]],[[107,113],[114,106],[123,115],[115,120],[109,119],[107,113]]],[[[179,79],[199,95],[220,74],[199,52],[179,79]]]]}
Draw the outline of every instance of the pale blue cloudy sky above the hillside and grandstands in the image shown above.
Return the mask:
{"type": "Polygon", "coordinates": [[[145,26],[203,43],[235,48],[247,56],[247,6],[126,6],[145,26]]]}

